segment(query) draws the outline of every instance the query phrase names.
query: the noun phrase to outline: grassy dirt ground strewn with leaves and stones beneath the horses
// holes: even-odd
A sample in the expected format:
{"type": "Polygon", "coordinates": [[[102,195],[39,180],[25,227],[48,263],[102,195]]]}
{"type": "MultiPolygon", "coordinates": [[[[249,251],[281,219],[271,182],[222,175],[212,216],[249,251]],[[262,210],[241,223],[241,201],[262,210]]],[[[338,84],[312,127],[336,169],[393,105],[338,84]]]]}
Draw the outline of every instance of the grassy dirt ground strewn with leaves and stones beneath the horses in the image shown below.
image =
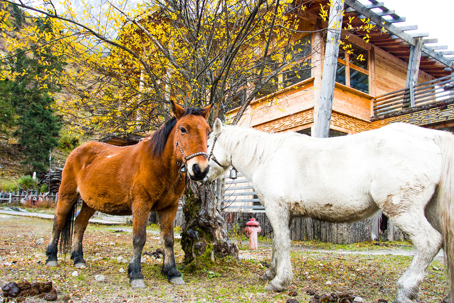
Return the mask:
{"type": "MultiPolygon", "coordinates": [[[[185,286],[174,286],[160,274],[162,260],[145,255],[142,272],[145,289],[133,290],[128,284],[128,261],[131,255],[131,233],[128,227],[90,224],[84,239],[84,257],[88,268],[75,269],[69,256],[60,256],[59,267],[44,265],[45,248],[50,238],[52,221],[0,214],[0,284],[27,280],[52,281],[57,290],[56,302],[286,302],[294,299],[309,302],[307,291],[348,293],[364,302],[379,299],[393,301],[396,281],[409,266],[412,250],[407,244],[365,243],[334,246],[294,242],[292,265],[294,279],[287,291],[268,293],[266,282],[259,279],[265,262],[271,257],[270,242],[260,239],[258,251],[249,251],[245,238],[237,239],[241,260],[206,266],[190,271],[183,266],[179,240],[175,252],[185,286]],[[126,228],[126,229],[122,229],[126,228]],[[323,248],[323,249],[320,249],[323,248]],[[385,250],[383,250],[385,248],[385,250]],[[334,249],[334,250],[333,250],[334,249]],[[339,250],[342,249],[342,250],[339,250]],[[394,254],[394,255],[393,255],[394,254]],[[95,276],[104,276],[97,281],[95,276]]],[[[150,231],[144,252],[160,248],[156,231],[150,231]]],[[[421,301],[438,303],[446,296],[448,283],[442,258],[437,258],[426,272],[421,287],[421,301]]],[[[47,302],[39,297],[24,302],[47,302]]]]}

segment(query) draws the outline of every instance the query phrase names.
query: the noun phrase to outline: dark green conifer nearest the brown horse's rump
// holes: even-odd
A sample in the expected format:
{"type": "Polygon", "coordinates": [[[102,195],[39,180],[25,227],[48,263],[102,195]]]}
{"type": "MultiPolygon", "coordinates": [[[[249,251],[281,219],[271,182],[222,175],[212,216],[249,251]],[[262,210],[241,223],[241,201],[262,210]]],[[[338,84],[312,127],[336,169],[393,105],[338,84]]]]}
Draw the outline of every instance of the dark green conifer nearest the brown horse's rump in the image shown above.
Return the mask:
{"type": "MultiPolygon", "coordinates": [[[[52,33],[51,23],[47,20],[38,19],[35,23],[41,32],[52,33]]],[[[61,86],[48,76],[48,71],[61,73],[64,61],[52,54],[46,46],[28,52],[19,49],[13,60],[12,68],[19,74],[15,79],[0,83],[0,98],[4,88],[3,103],[9,104],[17,116],[14,121],[17,128],[13,136],[18,138],[18,143],[27,156],[24,164],[31,165],[36,172],[42,172],[46,168],[49,150],[58,144],[61,128],[52,109],[54,100],[51,97],[61,86]],[[10,84],[6,84],[7,82],[10,84]]],[[[0,113],[1,111],[0,101],[0,113]]]]}

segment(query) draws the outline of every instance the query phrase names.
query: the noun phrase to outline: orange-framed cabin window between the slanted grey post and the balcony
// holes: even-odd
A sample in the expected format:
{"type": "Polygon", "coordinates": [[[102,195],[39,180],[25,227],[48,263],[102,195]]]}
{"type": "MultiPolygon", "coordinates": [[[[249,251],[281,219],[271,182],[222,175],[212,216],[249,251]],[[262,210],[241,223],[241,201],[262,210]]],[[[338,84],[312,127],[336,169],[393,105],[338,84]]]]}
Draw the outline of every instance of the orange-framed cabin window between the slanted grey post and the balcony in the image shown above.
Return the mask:
{"type": "Polygon", "coordinates": [[[369,93],[369,52],[354,44],[339,46],[336,82],[369,93]]]}

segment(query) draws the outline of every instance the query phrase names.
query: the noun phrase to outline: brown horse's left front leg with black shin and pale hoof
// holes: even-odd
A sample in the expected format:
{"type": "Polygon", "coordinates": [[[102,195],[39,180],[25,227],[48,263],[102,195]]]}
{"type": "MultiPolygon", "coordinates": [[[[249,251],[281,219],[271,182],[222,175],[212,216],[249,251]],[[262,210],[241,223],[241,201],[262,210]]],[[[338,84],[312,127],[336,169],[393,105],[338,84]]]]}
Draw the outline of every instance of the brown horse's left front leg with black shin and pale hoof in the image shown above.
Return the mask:
{"type": "Polygon", "coordinates": [[[132,210],[132,258],[128,266],[129,283],[133,288],[145,288],[144,276],[142,275],[140,260],[142,250],[147,240],[147,221],[150,207],[144,202],[133,205],[132,210]]]}

